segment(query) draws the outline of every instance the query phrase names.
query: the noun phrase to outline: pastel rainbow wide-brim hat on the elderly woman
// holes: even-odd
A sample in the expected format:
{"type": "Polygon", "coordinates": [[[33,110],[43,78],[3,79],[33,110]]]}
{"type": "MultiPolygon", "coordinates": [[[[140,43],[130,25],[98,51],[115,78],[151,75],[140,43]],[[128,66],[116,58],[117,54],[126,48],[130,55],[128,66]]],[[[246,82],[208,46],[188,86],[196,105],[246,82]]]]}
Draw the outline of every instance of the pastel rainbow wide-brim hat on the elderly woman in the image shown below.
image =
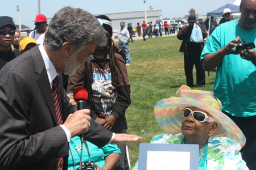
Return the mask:
{"type": "Polygon", "coordinates": [[[181,86],[176,96],[158,101],[155,105],[155,118],[161,128],[167,133],[180,133],[183,119],[183,109],[197,107],[210,113],[218,126],[214,135],[221,135],[234,139],[245,145],[246,139],[238,126],[221,112],[221,102],[213,96],[213,92],[191,90],[188,86],[181,86]]]}

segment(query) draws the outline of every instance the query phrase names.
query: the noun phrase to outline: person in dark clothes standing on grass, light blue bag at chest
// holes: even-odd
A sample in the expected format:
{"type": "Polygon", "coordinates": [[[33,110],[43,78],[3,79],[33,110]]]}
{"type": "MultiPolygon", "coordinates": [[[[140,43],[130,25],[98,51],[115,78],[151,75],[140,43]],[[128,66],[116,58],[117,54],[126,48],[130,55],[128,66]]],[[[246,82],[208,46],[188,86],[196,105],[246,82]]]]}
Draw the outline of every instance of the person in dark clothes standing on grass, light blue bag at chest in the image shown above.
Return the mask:
{"type": "MultiPolygon", "coordinates": [[[[204,48],[204,43],[194,43],[190,41],[193,25],[197,19],[195,15],[189,15],[188,25],[185,25],[177,34],[177,39],[182,40],[179,52],[184,53],[184,67],[187,78],[187,86],[193,87],[193,66],[196,65],[196,84],[199,87],[205,87],[205,71],[200,62],[201,52],[204,48]]],[[[203,25],[198,25],[201,28],[203,39],[207,37],[207,32],[203,25]]]]}

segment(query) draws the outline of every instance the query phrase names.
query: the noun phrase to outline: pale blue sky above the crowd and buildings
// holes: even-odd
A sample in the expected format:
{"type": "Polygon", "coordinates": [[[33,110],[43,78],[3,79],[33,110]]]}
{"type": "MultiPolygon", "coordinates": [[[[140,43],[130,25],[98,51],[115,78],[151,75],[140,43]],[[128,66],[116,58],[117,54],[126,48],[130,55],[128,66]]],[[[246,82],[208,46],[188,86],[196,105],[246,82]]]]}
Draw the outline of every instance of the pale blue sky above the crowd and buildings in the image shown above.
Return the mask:
{"type": "MultiPolygon", "coordinates": [[[[149,6],[154,10],[162,9],[163,18],[183,17],[188,14],[191,8],[196,10],[199,15],[206,15],[207,12],[216,10],[217,8],[226,5],[227,3],[234,3],[236,0],[147,0],[146,8],[149,6]]],[[[38,14],[38,0],[1,0],[0,16],[11,16],[18,24],[18,12],[16,5],[20,8],[20,22],[28,27],[34,28],[34,23],[38,14]]],[[[92,14],[106,14],[111,12],[126,12],[126,11],[140,11],[144,10],[143,0],[73,0],[73,1],[56,1],[56,0],[41,0],[41,14],[46,17],[52,17],[55,12],[65,6],[80,7],[92,14]]]]}

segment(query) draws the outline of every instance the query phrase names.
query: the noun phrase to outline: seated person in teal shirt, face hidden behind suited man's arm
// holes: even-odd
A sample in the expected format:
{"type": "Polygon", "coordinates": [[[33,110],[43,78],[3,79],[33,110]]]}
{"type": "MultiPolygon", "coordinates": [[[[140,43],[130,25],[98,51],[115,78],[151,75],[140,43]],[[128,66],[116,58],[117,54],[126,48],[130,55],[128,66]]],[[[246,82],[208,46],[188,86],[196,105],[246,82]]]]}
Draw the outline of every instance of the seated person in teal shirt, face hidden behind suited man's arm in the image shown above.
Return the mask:
{"type": "Polygon", "coordinates": [[[82,152],[82,169],[113,170],[121,153],[117,145],[97,147],[88,141],[84,142],[81,151],[80,137],[74,137],[69,142],[68,170],[80,169],[80,156],[82,152]],[[94,168],[90,163],[94,163],[94,168]],[[89,164],[88,164],[89,163],[89,164]],[[88,169],[90,169],[88,168],[88,169]]]}

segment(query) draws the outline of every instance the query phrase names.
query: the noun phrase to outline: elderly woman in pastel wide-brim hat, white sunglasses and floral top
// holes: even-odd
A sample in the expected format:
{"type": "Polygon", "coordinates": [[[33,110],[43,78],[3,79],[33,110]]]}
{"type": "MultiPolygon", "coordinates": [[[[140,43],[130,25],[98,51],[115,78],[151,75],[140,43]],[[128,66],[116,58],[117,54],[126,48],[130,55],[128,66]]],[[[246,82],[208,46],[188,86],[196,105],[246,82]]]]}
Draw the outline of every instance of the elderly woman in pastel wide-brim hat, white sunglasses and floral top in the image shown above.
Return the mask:
{"type": "Polygon", "coordinates": [[[200,170],[248,169],[240,153],[245,136],[221,112],[221,102],[213,92],[183,85],[176,95],[155,105],[156,121],[167,133],[156,135],[150,143],[198,144],[200,170]]]}

